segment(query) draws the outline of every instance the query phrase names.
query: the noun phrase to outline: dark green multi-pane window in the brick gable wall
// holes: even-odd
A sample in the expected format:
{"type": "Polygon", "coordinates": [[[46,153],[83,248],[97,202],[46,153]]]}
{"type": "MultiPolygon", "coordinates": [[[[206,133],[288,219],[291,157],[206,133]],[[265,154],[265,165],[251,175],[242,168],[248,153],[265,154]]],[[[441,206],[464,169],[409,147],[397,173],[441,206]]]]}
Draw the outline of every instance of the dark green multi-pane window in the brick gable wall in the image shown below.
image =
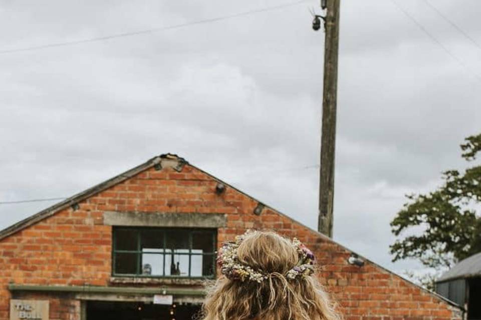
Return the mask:
{"type": "Polygon", "coordinates": [[[113,228],[113,275],[213,277],[216,229],[113,228]]]}

